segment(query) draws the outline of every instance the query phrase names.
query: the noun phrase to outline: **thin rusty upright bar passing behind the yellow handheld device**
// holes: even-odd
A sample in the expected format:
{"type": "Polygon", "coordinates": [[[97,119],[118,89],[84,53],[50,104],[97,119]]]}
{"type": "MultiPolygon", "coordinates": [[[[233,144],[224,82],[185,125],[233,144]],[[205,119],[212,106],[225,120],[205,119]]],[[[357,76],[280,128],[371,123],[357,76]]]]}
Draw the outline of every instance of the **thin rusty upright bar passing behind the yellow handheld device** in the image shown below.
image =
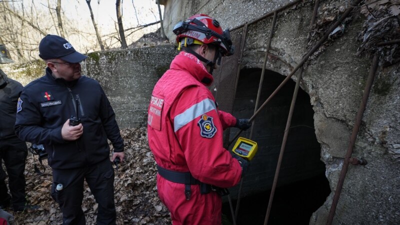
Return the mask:
{"type": "MultiPolygon", "coordinates": [[[[268,53],[269,53],[269,49],[271,47],[271,40],[272,40],[272,36],[273,36],[273,29],[275,28],[275,24],[276,24],[276,17],[277,17],[277,11],[274,11],[273,13],[273,18],[272,18],[272,24],[271,24],[271,28],[269,30],[269,36],[268,36],[268,42],[267,42],[267,46],[266,46],[266,51],[265,51],[265,55],[264,55],[264,63],[262,64],[262,71],[261,71],[261,77],[259,80],[259,84],[258,84],[258,92],[257,92],[257,98],[255,100],[255,107],[254,107],[254,112],[257,110],[257,105],[259,103],[259,98],[261,95],[261,89],[262,89],[262,82],[264,80],[264,74],[265,74],[265,65],[266,65],[266,61],[268,58],[268,53]]],[[[249,139],[251,139],[252,134],[253,134],[253,129],[254,129],[254,123],[255,123],[255,119],[252,121],[251,124],[251,130],[250,130],[250,136],[249,139]]],[[[236,219],[237,219],[237,214],[239,213],[239,206],[240,206],[240,194],[241,194],[241,187],[243,185],[243,179],[244,177],[242,177],[240,179],[240,185],[239,185],[239,190],[237,192],[237,201],[236,201],[236,208],[234,211],[234,223],[236,223],[236,219]]]]}

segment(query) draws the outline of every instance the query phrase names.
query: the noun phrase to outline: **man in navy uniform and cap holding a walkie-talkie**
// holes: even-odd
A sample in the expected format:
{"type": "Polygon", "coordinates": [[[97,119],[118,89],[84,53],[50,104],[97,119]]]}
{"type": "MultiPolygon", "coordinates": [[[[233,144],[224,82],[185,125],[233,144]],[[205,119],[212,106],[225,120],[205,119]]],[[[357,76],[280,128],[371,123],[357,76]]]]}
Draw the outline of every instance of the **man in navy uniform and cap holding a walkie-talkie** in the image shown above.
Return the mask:
{"type": "Polygon", "coordinates": [[[51,196],[59,204],[63,224],[85,224],[84,179],[98,203],[97,224],[115,224],[107,138],[114,147],[111,160],[123,161],[124,153],[114,111],[100,84],[81,76],[79,62],[87,56],[67,40],[48,34],[40,41],[39,56],[46,62],[46,74],[23,88],[15,132],[44,145],[53,172],[51,196]]]}

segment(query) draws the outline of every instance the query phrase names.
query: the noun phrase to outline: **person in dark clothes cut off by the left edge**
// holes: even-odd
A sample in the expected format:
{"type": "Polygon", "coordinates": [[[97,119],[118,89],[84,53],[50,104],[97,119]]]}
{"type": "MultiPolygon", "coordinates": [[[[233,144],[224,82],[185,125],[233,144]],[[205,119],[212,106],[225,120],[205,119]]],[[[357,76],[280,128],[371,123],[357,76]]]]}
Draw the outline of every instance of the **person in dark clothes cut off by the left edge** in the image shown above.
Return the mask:
{"type": "MultiPolygon", "coordinates": [[[[6,48],[0,44],[0,63],[11,63],[7,57],[6,48]]],[[[25,160],[27,155],[26,143],[20,140],[14,131],[16,102],[23,86],[11,79],[0,69],[0,208],[7,208],[10,202],[14,211],[37,208],[27,205],[25,200],[25,160]],[[7,193],[5,172],[1,159],[4,160],[8,174],[7,193]]]]}

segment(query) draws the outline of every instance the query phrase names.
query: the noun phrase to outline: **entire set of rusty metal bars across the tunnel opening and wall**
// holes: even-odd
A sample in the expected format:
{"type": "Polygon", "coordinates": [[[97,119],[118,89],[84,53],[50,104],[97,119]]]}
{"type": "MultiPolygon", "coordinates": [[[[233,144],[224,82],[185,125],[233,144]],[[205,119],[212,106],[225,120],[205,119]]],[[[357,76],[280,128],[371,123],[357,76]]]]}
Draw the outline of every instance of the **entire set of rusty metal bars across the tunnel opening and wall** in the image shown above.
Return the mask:
{"type": "MultiPolygon", "coordinates": [[[[245,22],[243,24],[240,24],[240,25],[230,29],[230,31],[233,31],[233,30],[238,30],[240,28],[243,28],[241,41],[240,41],[240,53],[239,53],[239,57],[237,58],[237,66],[235,66],[234,70],[227,71],[227,73],[229,75],[232,75],[235,78],[235,84],[234,84],[234,88],[233,88],[233,93],[234,94],[232,95],[233,98],[234,98],[234,96],[236,94],[236,88],[237,88],[237,83],[238,83],[238,79],[239,79],[239,73],[240,73],[240,70],[241,70],[240,63],[242,61],[243,52],[245,50],[245,45],[246,45],[245,41],[246,41],[246,35],[247,35],[248,26],[250,24],[252,24],[252,23],[256,23],[258,21],[261,21],[261,20],[273,15],[271,28],[270,28],[270,32],[269,32],[269,37],[268,37],[268,42],[267,42],[267,48],[266,48],[264,59],[263,59],[263,65],[262,65],[262,71],[261,71],[261,76],[260,76],[260,81],[259,81],[259,86],[258,86],[258,91],[257,91],[257,98],[256,98],[256,102],[255,102],[255,107],[254,107],[254,113],[249,119],[250,122],[252,122],[252,127],[251,127],[251,130],[250,130],[250,138],[251,138],[252,133],[253,133],[253,126],[254,126],[254,122],[255,122],[255,117],[265,107],[265,105],[271,100],[271,98],[273,96],[275,96],[275,94],[282,88],[282,86],[291,78],[291,76],[298,69],[300,69],[300,71],[297,74],[296,85],[295,85],[295,88],[294,88],[294,91],[293,91],[293,96],[292,96],[291,105],[290,105],[290,109],[289,109],[289,115],[288,115],[287,122],[286,122],[286,128],[284,130],[284,135],[283,135],[282,144],[281,144],[280,153],[279,153],[279,158],[278,158],[278,162],[277,162],[277,166],[276,166],[276,170],[275,170],[274,180],[273,180],[273,184],[272,184],[272,188],[271,188],[270,197],[269,197],[269,200],[268,200],[268,207],[267,207],[267,211],[266,211],[266,214],[265,214],[264,224],[267,224],[268,218],[269,218],[269,213],[270,213],[270,210],[271,210],[272,200],[273,200],[273,196],[274,196],[274,192],[275,192],[275,188],[276,188],[276,184],[277,184],[277,178],[278,178],[279,170],[280,170],[280,164],[281,164],[281,161],[282,161],[283,152],[284,152],[285,144],[286,144],[286,141],[287,141],[288,129],[290,127],[291,117],[292,117],[292,114],[293,114],[293,111],[294,111],[294,104],[295,104],[295,101],[296,101],[297,92],[298,92],[298,88],[299,88],[299,83],[300,83],[300,80],[301,80],[302,66],[308,60],[308,57],[311,56],[320,47],[320,45],[326,41],[326,39],[329,37],[329,34],[338,25],[340,25],[343,22],[343,20],[348,16],[348,14],[351,12],[351,10],[355,6],[357,6],[359,4],[359,2],[361,2],[361,0],[354,0],[353,1],[352,5],[349,6],[342,13],[342,15],[329,27],[329,29],[324,33],[324,35],[302,57],[300,62],[297,63],[297,65],[293,68],[293,70],[289,74],[286,75],[285,79],[276,87],[276,89],[269,95],[269,97],[262,103],[262,105],[257,107],[258,104],[259,104],[259,98],[260,98],[260,94],[261,94],[262,83],[263,83],[264,73],[265,73],[265,66],[266,66],[266,61],[267,61],[268,54],[269,54],[271,40],[272,40],[272,37],[273,37],[274,27],[275,27],[275,24],[276,24],[277,13],[280,12],[280,11],[283,11],[283,10],[287,9],[288,7],[293,6],[293,5],[295,5],[295,4],[297,4],[297,3],[301,2],[301,1],[302,0],[292,1],[292,2],[290,2],[290,3],[288,3],[288,4],[284,5],[284,6],[281,6],[281,7],[277,8],[277,9],[271,11],[271,12],[268,12],[268,13],[266,13],[266,14],[264,14],[264,15],[256,18],[256,19],[253,19],[253,20],[251,20],[249,22],[245,22]],[[235,71],[235,74],[234,74],[234,71],[235,71]]],[[[319,5],[319,0],[315,0],[314,7],[313,7],[313,13],[311,15],[310,26],[312,26],[314,24],[314,22],[315,22],[318,5],[319,5]]],[[[379,43],[377,43],[377,45],[393,44],[393,43],[399,43],[399,42],[400,42],[400,40],[392,40],[392,41],[386,41],[386,42],[379,42],[379,43]]],[[[360,108],[359,108],[359,110],[357,112],[357,115],[356,115],[356,123],[355,123],[355,125],[353,127],[353,131],[352,131],[352,134],[351,134],[351,137],[350,137],[350,143],[349,143],[349,146],[348,146],[348,150],[347,150],[346,155],[344,156],[344,164],[343,164],[343,167],[342,167],[342,171],[340,173],[339,181],[337,183],[337,187],[336,187],[335,194],[334,194],[334,197],[333,197],[333,200],[332,200],[332,204],[331,204],[331,208],[330,208],[330,211],[329,211],[328,219],[327,219],[327,222],[326,222],[326,224],[329,224],[329,225],[331,224],[332,219],[333,219],[333,215],[334,215],[334,212],[335,212],[335,209],[336,209],[337,201],[338,201],[338,198],[340,196],[343,180],[344,180],[345,174],[347,172],[348,163],[352,159],[351,158],[352,147],[354,145],[354,141],[355,141],[355,138],[356,138],[357,133],[358,133],[358,129],[359,129],[359,125],[360,125],[360,121],[361,121],[361,118],[362,118],[363,111],[365,110],[365,105],[366,105],[366,102],[368,100],[369,91],[370,91],[370,87],[371,87],[372,82],[373,82],[373,77],[374,77],[374,74],[375,74],[375,71],[376,71],[376,68],[377,68],[377,64],[378,64],[378,56],[375,54],[375,56],[373,58],[373,61],[372,61],[372,64],[371,64],[371,69],[370,69],[368,80],[367,80],[367,83],[366,83],[366,86],[365,86],[365,90],[364,90],[364,93],[363,93],[363,97],[362,97],[362,101],[361,101],[361,104],[360,104],[360,108]]],[[[233,102],[232,102],[232,104],[233,104],[233,102]]],[[[229,141],[228,145],[230,145],[233,142],[233,140],[235,140],[238,137],[238,135],[241,133],[241,131],[242,130],[240,130],[239,132],[237,132],[234,135],[234,137],[229,141]]],[[[357,159],[354,159],[354,160],[357,161],[357,159]]],[[[359,162],[359,160],[357,162],[359,162]]],[[[357,162],[354,162],[353,164],[360,164],[360,163],[357,163],[357,162]]],[[[237,196],[235,212],[233,212],[231,198],[230,198],[230,196],[228,196],[230,210],[231,210],[231,213],[232,213],[232,219],[233,219],[233,223],[234,224],[236,224],[238,209],[239,209],[239,205],[240,205],[239,204],[240,203],[240,192],[241,192],[241,186],[242,186],[243,178],[240,181],[240,186],[239,186],[239,190],[238,190],[238,196],[237,196]]]]}

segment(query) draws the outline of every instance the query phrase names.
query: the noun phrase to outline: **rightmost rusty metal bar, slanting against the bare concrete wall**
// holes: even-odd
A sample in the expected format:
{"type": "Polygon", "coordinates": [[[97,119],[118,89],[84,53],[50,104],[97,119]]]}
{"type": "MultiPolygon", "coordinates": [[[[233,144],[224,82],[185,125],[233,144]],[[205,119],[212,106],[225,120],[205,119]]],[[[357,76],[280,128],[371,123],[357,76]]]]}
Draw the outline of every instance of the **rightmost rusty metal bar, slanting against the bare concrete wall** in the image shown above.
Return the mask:
{"type": "Polygon", "coordinates": [[[365,84],[365,89],[362,94],[362,100],[359,105],[357,115],[355,116],[355,124],[354,124],[353,130],[351,132],[350,141],[348,143],[346,155],[344,156],[343,167],[341,168],[339,180],[337,181],[336,190],[333,195],[332,205],[330,206],[329,215],[326,220],[326,225],[332,224],[333,216],[336,211],[337,202],[339,201],[341,188],[343,187],[344,178],[347,173],[349,158],[351,157],[351,154],[353,152],[353,146],[355,143],[355,139],[357,138],[357,133],[359,130],[359,126],[361,124],[362,115],[364,113],[366,102],[367,102],[368,96],[369,96],[369,92],[371,90],[373,79],[375,77],[375,71],[378,66],[378,61],[379,61],[378,59],[379,59],[378,54],[377,54],[377,52],[375,52],[375,55],[373,56],[373,59],[372,59],[371,68],[369,70],[368,79],[365,84]]]}

